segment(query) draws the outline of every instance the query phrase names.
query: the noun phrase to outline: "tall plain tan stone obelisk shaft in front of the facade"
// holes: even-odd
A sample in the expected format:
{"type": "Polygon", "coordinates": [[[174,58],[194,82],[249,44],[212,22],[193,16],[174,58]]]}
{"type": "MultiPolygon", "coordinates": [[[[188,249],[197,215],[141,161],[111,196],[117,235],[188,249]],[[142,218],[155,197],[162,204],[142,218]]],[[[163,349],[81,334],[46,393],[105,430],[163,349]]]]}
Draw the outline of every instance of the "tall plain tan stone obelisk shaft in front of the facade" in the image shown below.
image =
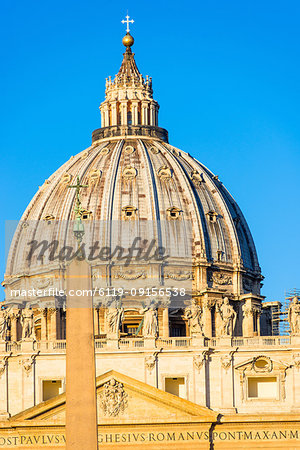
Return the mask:
{"type": "Polygon", "coordinates": [[[98,449],[96,370],[91,268],[73,260],[67,269],[66,449],[98,449]]]}

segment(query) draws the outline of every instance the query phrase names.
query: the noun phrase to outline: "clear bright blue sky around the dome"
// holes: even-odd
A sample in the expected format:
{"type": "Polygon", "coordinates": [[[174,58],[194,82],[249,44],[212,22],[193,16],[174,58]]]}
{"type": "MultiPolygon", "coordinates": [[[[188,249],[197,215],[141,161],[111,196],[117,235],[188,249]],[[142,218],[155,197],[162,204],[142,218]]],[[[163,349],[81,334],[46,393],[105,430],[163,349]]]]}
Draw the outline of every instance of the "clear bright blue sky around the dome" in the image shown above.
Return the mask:
{"type": "Polygon", "coordinates": [[[299,0],[4,0],[1,274],[4,221],[19,219],[38,186],[100,127],[127,7],[160,125],[235,197],[266,277],[263,294],[282,299],[300,288],[299,0]]]}

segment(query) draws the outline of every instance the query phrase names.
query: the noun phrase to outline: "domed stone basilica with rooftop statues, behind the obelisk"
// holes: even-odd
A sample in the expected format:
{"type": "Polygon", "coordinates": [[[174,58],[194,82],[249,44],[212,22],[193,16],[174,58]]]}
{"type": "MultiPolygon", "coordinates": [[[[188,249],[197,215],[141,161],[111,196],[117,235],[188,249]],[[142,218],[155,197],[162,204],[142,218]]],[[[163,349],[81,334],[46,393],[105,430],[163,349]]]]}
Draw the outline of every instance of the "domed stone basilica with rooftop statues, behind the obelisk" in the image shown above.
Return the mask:
{"type": "Polygon", "coordinates": [[[0,446],[65,445],[66,268],[75,235],[91,268],[99,446],[298,448],[298,299],[290,334],[274,334],[280,304],[261,296],[247,222],[219,177],[169,144],[133,43],[127,33],[92,145],[45,180],[11,244],[0,446]],[[34,434],[45,423],[51,439],[34,434]],[[130,424],[141,426],[136,439],[130,424]]]}

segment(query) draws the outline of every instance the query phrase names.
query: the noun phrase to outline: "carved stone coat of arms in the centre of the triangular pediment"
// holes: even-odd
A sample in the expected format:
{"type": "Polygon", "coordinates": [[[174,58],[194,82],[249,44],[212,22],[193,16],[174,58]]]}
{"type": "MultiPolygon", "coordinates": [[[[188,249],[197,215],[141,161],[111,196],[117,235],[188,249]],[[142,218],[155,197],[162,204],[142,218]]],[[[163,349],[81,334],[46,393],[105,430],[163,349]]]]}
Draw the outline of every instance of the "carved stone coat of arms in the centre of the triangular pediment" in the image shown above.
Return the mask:
{"type": "Polygon", "coordinates": [[[128,406],[128,394],[124,390],[123,383],[112,378],[103,387],[104,391],[100,399],[104,415],[117,417],[119,414],[124,413],[128,406]]]}

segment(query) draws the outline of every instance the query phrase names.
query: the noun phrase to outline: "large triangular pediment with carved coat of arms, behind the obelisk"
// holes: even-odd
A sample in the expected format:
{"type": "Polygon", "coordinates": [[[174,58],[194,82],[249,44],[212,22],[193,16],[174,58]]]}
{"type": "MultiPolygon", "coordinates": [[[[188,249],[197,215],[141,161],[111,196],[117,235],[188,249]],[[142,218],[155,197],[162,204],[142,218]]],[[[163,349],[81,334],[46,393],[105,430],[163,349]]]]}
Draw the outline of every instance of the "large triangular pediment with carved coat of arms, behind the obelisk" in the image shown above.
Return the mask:
{"type": "MultiPolygon", "coordinates": [[[[216,420],[209,408],[164,392],[134,378],[111,370],[97,377],[98,422],[160,421],[183,419],[216,420]]],[[[65,423],[66,394],[29,408],[10,420],[41,420],[65,423]]]]}

